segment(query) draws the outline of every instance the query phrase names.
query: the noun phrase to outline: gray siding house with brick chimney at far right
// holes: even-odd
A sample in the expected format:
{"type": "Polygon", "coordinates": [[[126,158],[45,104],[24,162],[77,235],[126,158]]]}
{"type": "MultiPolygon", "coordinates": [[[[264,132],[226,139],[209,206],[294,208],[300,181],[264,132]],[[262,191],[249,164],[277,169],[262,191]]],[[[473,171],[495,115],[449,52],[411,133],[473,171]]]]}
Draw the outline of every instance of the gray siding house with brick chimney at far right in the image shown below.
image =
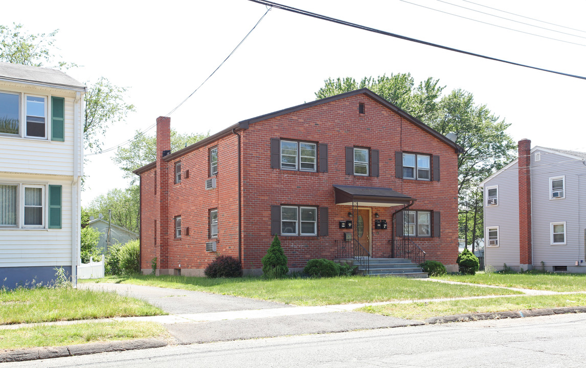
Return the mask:
{"type": "Polygon", "coordinates": [[[530,144],[480,184],[486,267],[586,273],[586,153],[530,144]]]}

